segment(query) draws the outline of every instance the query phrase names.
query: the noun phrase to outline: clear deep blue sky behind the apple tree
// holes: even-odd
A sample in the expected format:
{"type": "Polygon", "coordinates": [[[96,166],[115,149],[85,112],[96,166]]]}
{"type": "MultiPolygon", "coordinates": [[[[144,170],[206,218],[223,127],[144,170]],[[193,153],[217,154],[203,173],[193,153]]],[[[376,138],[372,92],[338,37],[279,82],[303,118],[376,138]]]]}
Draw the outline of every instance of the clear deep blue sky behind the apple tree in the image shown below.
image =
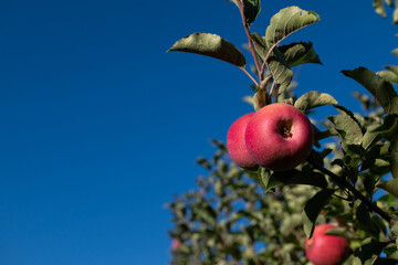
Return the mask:
{"type": "MultiPolygon", "coordinates": [[[[339,71],[396,64],[390,12],[381,19],[370,0],[263,0],[253,31],[292,4],[322,18],[287,40],[311,40],[324,63],[302,68],[297,94],[359,110],[349,93],[360,87],[339,71]]],[[[195,188],[209,139],[252,112],[241,71],[166,54],[193,32],[247,41],[224,0],[1,1],[0,264],[168,264],[164,204],[195,188]]]]}

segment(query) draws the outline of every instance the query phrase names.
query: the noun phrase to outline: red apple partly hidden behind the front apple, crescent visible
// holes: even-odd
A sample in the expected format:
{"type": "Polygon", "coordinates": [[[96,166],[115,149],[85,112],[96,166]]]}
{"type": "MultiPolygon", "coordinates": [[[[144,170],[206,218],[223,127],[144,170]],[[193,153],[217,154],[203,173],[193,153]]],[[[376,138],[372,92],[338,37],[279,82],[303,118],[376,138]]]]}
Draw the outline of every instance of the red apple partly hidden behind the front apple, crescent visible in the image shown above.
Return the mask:
{"type": "Polygon", "coordinates": [[[256,170],[259,166],[249,155],[244,142],[247,125],[254,113],[249,113],[238,118],[229,128],[227,134],[227,149],[231,159],[241,168],[256,170]]]}

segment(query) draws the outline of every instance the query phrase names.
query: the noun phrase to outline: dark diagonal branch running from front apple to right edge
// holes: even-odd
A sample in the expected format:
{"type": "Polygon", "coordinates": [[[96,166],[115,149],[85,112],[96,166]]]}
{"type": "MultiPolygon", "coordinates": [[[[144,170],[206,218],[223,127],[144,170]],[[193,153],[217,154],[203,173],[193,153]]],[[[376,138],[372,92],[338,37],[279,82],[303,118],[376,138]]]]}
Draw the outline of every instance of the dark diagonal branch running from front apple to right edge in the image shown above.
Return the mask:
{"type": "Polygon", "coordinates": [[[369,201],[363,193],[360,193],[357,189],[355,189],[354,186],[352,186],[347,180],[345,180],[344,178],[333,173],[331,170],[315,163],[314,161],[308,160],[308,162],[317,170],[320,170],[321,172],[323,172],[324,174],[327,174],[332,180],[336,181],[339,186],[348,189],[353,195],[357,199],[359,199],[362,202],[365,203],[365,205],[378,213],[384,220],[386,220],[388,223],[390,223],[391,225],[394,225],[396,223],[396,220],[394,220],[387,212],[383,211],[379,206],[376,205],[376,203],[374,203],[373,201],[369,201]]]}

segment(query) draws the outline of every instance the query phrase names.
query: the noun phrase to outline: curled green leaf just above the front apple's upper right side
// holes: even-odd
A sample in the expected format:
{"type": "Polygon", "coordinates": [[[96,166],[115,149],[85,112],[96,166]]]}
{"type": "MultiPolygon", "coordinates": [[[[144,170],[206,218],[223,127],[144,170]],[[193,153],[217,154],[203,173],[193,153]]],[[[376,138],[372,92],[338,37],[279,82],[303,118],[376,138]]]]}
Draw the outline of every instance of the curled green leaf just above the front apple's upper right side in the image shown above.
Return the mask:
{"type": "Polygon", "coordinates": [[[315,107],[336,104],[338,104],[337,100],[329,94],[312,91],[302,95],[294,103],[294,106],[300,110],[305,112],[315,107]]]}

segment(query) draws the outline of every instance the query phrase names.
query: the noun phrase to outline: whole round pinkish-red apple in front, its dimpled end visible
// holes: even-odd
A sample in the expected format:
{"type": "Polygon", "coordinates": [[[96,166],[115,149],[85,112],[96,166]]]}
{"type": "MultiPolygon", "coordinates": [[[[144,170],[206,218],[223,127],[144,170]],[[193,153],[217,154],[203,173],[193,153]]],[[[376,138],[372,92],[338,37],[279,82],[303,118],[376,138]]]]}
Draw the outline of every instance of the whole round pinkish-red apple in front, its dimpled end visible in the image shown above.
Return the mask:
{"type": "Polygon", "coordinates": [[[314,145],[314,129],[301,110],[285,103],[274,103],[251,117],[244,140],[258,165],[285,171],[308,157],[314,145]]]}

